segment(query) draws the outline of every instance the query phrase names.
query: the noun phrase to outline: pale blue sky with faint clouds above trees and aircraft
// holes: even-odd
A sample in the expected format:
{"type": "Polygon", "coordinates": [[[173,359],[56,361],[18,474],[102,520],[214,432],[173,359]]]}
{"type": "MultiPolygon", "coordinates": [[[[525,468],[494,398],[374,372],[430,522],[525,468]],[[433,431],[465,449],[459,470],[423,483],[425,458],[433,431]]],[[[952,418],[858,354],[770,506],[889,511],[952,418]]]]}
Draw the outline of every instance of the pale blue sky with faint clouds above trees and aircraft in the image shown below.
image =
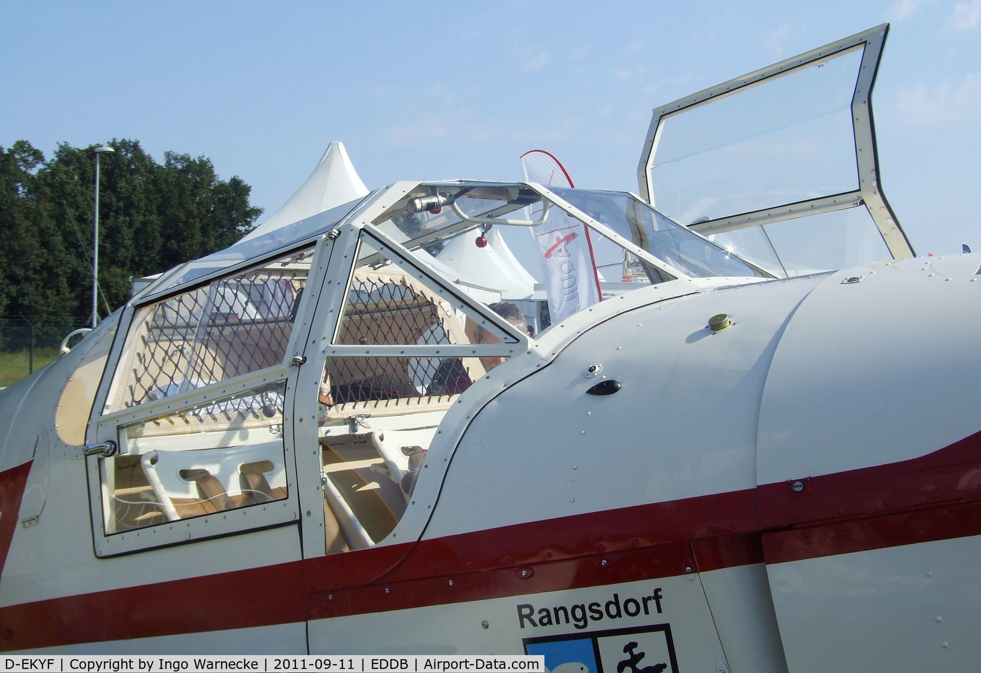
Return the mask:
{"type": "Polygon", "coordinates": [[[369,188],[638,191],[652,108],[872,26],[881,184],[919,254],[981,251],[981,0],[0,3],[0,145],[203,155],[272,215],[332,140],[369,188]]]}

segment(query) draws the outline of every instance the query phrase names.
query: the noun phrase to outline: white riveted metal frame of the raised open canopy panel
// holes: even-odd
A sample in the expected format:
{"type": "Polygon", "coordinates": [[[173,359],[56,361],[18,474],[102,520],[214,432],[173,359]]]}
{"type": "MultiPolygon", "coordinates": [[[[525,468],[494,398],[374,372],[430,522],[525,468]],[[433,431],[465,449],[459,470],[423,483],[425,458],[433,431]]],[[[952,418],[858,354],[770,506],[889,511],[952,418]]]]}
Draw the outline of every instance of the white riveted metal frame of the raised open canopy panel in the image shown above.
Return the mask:
{"type": "Polygon", "coordinates": [[[888,24],[876,26],[838,42],[812,49],[799,56],[794,56],[743,77],[730,79],[655,108],[651,115],[650,127],[647,129],[644,150],[637,169],[641,194],[645,195],[651,205],[656,206],[652,181],[653,159],[660,142],[663,123],[668,117],[704,105],[712,99],[730,96],[750,86],[757,86],[764,83],[764,80],[768,78],[783,77],[815,62],[861,47],[861,63],[852,94],[852,129],[854,132],[855,162],[858,168],[858,189],[839,194],[826,194],[805,201],[784,203],[749,213],[703,220],[691,224],[689,227],[703,235],[724,233],[745,227],[767,225],[806,215],[864,205],[893,257],[896,259],[912,257],[913,250],[909,240],[906,238],[899,220],[893,213],[885,194],[882,192],[882,186],[879,184],[879,157],[872,120],[872,86],[875,83],[882,48],[888,32],[888,24]]]}

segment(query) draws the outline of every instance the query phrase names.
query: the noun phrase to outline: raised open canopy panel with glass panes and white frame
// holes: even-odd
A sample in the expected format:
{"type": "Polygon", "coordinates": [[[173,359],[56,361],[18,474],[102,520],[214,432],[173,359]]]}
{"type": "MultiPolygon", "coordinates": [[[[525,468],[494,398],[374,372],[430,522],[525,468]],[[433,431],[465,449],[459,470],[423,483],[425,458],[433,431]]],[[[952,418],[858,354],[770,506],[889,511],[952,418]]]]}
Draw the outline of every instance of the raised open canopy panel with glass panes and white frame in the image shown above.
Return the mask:
{"type": "Polygon", "coordinates": [[[888,27],[655,109],[641,193],[698,233],[726,234],[716,242],[779,276],[912,256],[878,181],[873,134],[888,27]],[[787,220],[798,222],[772,227],[787,220]],[[813,245],[821,250],[800,253],[813,245]]]}

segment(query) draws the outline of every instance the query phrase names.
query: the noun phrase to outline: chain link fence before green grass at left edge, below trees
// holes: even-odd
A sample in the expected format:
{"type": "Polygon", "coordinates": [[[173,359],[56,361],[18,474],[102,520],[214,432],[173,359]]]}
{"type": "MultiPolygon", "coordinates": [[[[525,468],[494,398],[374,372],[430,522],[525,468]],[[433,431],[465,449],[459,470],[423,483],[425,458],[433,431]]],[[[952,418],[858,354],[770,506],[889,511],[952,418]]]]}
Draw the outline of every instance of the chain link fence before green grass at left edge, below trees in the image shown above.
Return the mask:
{"type": "Polygon", "coordinates": [[[57,358],[63,338],[90,326],[88,316],[0,316],[0,388],[57,358]]]}

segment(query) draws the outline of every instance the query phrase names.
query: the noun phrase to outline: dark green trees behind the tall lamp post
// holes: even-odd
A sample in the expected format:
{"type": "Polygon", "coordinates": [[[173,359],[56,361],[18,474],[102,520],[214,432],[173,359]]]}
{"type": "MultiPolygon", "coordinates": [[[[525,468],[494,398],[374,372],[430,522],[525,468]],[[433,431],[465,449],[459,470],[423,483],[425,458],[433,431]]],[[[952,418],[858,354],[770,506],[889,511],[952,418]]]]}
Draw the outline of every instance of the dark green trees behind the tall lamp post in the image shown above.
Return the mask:
{"type": "MultiPolygon", "coordinates": [[[[110,145],[115,154],[100,158],[99,284],[113,310],[130,277],[227,247],[262,213],[248,184],[220,180],[205,157],[167,152],[158,164],[136,140],[110,145]]],[[[0,146],[0,315],[91,312],[94,147],[62,143],[45,161],[26,140],[0,146]]]]}

